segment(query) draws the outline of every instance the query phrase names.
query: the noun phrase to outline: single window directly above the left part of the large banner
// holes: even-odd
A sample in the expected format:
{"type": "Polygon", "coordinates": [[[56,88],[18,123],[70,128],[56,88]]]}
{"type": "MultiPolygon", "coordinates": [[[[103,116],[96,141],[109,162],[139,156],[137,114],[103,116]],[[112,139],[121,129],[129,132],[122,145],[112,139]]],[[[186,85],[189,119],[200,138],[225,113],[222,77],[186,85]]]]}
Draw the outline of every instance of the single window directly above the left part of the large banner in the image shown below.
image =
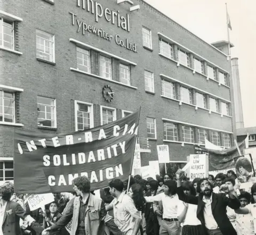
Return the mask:
{"type": "Polygon", "coordinates": [[[56,100],[37,96],[37,125],[57,127],[56,100]]]}

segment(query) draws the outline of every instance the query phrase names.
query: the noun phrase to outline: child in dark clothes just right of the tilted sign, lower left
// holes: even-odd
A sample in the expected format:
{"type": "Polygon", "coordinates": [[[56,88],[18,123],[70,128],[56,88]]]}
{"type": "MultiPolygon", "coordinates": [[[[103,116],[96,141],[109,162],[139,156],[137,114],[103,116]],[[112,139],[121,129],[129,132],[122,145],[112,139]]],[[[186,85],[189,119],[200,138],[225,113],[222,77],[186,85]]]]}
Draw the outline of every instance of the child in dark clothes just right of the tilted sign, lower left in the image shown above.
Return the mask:
{"type": "MultiPolygon", "coordinates": [[[[44,229],[47,228],[47,223],[49,223],[49,225],[51,226],[51,225],[55,224],[60,219],[60,217],[62,216],[58,212],[58,203],[55,202],[55,201],[50,203],[49,210],[50,210],[50,217],[47,217],[46,213],[43,214],[43,216],[44,216],[44,221],[43,221],[44,229]]],[[[51,230],[50,235],[61,235],[61,229],[51,230]]]]}

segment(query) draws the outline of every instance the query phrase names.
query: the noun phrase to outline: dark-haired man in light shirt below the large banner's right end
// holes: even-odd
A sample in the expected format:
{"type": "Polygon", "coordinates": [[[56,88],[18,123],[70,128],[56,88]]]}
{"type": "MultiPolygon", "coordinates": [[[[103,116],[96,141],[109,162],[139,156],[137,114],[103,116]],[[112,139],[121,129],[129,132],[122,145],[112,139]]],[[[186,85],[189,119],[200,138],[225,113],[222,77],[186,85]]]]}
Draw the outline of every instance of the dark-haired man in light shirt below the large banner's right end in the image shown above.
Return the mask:
{"type": "Polygon", "coordinates": [[[109,188],[114,200],[106,206],[106,210],[114,209],[115,224],[125,235],[137,235],[141,225],[141,213],[132,198],[125,194],[124,183],[114,179],[110,181],[109,188]]]}

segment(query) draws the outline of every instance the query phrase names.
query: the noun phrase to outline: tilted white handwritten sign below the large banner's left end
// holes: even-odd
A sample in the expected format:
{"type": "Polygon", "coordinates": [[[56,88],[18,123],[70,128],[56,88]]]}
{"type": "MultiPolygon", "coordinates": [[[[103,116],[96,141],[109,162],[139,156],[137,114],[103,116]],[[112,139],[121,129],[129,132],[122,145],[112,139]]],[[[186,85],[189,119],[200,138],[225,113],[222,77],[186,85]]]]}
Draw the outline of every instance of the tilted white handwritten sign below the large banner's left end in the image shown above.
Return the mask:
{"type": "Polygon", "coordinates": [[[50,194],[30,194],[27,197],[30,211],[41,208],[42,206],[49,204],[54,201],[54,196],[50,194]]]}

